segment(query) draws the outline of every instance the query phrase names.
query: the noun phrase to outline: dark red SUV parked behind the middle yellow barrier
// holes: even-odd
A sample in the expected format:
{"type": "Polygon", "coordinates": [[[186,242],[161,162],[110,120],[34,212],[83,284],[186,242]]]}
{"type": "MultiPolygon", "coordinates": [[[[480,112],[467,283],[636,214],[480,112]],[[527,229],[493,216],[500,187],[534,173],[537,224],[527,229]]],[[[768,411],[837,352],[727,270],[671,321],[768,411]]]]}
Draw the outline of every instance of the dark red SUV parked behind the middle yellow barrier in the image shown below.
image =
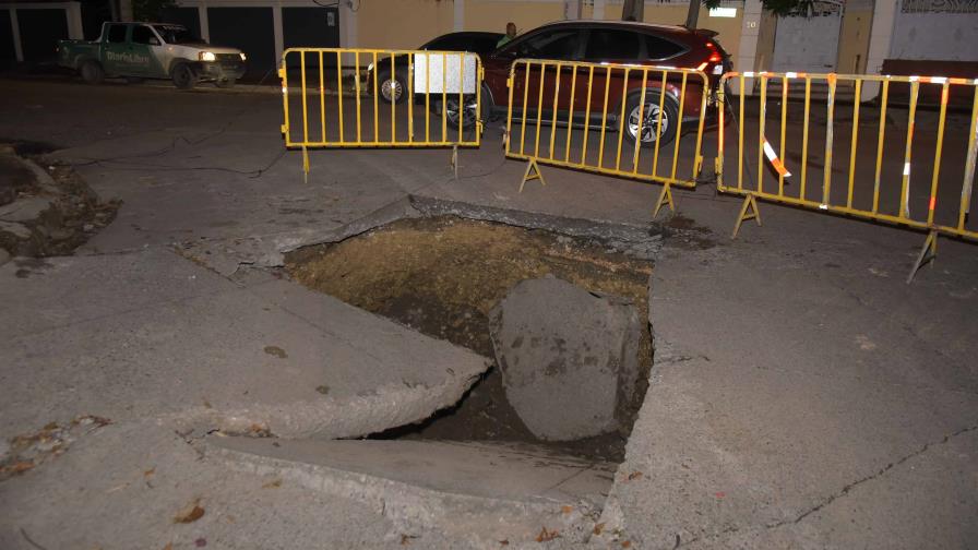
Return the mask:
{"type": "MultiPolygon", "coordinates": [[[[683,100],[683,120],[699,120],[702,94],[713,93],[719,81],[719,75],[730,70],[729,56],[714,39],[716,33],[706,29],[689,29],[681,26],[653,25],[633,22],[597,22],[597,21],[566,21],[551,23],[529,31],[496,51],[484,55],[482,63],[486,69],[485,87],[482,89],[485,112],[505,113],[509,101],[509,88],[506,80],[513,61],[520,58],[547,59],[560,61],[586,61],[606,63],[629,63],[644,65],[667,65],[676,68],[697,69],[709,76],[709,91],[704,91],[702,81],[690,77],[685,86],[685,99],[683,100]]],[[[537,65],[534,65],[537,67],[537,65]]],[[[516,118],[522,116],[533,117],[542,115],[552,116],[553,85],[556,69],[548,67],[544,77],[542,112],[536,112],[536,104],[539,92],[539,69],[532,69],[529,79],[526,79],[525,65],[518,65],[513,83],[513,104],[516,118]],[[535,74],[534,74],[535,73],[535,74]],[[528,84],[527,84],[528,83],[528,84]],[[529,87],[528,91],[524,89],[529,87]],[[527,112],[523,110],[524,93],[528,92],[527,112]]],[[[577,71],[577,85],[573,99],[575,123],[583,123],[585,103],[587,101],[587,75],[582,77],[582,71],[577,71]],[[580,117],[581,120],[577,120],[580,117]]],[[[620,130],[623,120],[619,120],[621,101],[624,96],[625,117],[629,121],[625,127],[625,138],[634,143],[639,129],[640,111],[644,112],[644,121],[641,127],[642,145],[653,145],[656,140],[655,124],[659,111],[659,75],[649,74],[645,84],[645,108],[640,109],[639,103],[642,96],[642,77],[630,74],[628,81],[624,71],[612,71],[606,79],[605,71],[595,71],[591,94],[592,128],[594,123],[600,123],[605,106],[605,85],[608,84],[608,113],[609,128],[620,130]]],[[[681,93],[681,79],[678,73],[670,75],[666,83],[666,98],[663,109],[661,142],[669,143],[676,134],[676,123],[679,116],[679,95],[681,93]]],[[[560,95],[557,100],[558,119],[562,112],[564,117],[571,108],[571,71],[564,70],[560,75],[560,95]]],[[[545,118],[545,120],[547,120],[545,118]]],[[[566,120],[564,118],[563,120],[566,120]]],[[[695,127],[693,127],[695,128],[695,127]]]]}

